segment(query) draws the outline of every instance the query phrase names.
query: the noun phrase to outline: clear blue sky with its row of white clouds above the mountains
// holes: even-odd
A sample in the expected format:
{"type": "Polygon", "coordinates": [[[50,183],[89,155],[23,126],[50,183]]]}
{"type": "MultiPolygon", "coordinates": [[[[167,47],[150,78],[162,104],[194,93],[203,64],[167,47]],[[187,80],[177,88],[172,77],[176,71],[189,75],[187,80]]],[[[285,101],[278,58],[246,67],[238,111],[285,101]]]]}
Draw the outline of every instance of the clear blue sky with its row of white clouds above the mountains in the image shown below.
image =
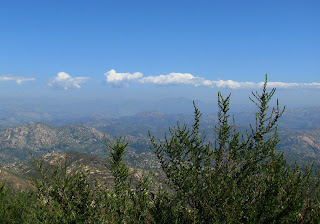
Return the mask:
{"type": "Polygon", "coordinates": [[[292,0],[3,0],[0,98],[237,99],[268,73],[285,103],[319,105],[319,11],[292,0]]]}

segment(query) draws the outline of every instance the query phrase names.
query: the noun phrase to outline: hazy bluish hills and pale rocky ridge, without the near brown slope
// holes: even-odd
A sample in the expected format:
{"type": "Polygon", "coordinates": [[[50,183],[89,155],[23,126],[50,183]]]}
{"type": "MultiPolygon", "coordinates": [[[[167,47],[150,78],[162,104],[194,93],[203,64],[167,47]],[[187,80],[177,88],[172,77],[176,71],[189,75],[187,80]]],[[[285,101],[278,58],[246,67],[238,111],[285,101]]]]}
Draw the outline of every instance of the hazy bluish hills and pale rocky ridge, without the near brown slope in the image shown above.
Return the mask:
{"type": "MultiPolygon", "coordinates": [[[[279,120],[278,150],[285,152],[286,158],[293,164],[297,161],[315,163],[320,166],[320,107],[287,109],[279,120]]],[[[87,116],[77,119],[49,119],[34,112],[34,117],[21,111],[10,113],[9,119],[1,120],[1,163],[26,160],[29,152],[63,153],[79,151],[105,157],[104,136],[108,141],[125,137],[129,142],[128,162],[136,167],[149,169],[157,162],[149,149],[148,132],[163,139],[169,127],[193,123],[192,114],[166,114],[161,112],[141,112],[130,116],[87,116]],[[26,117],[23,117],[26,115],[26,117]],[[34,119],[34,121],[30,121],[34,119]],[[143,153],[141,155],[141,153],[143,153]],[[149,157],[149,158],[148,158],[149,157]],[[139,158],[139,159],[137,159],[139,158]],[[145,163],[144,160],[149,160],[145,163]],[[148,167],[149,166],[149,167],[148,167]]],[[[4,115],[3,115],[4,116],[4,115]]],[[[9,114],[7,114],[9,116],[9,114]]],[[[236,126],[245,134],[249,124],[254,123],[255,111],[235,112],[236,126]]],[[[214,127],[217,114],[203,114],[201,131],[207,141],[214,141],[214,127]]]]}

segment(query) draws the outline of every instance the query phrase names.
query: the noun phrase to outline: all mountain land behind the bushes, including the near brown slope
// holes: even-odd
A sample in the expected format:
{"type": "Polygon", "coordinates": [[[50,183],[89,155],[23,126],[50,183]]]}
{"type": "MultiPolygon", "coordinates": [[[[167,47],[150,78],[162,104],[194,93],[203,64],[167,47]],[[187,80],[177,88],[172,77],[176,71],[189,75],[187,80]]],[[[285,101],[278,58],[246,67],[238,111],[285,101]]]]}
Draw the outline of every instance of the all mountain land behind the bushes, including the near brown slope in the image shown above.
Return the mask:
{"type": "MultiPolygon", "coordinates": [[[[316,113],[316,109],[301,110],[297,114],[289,111],[287,117],[283,118],[289,122],[286,127],[292,125],[290,122],[294,117],[301,116],[301,119],[296,121],[296,124],[300,122],[301,126],[303,120],[306,120],[303,114],[309,114],[308,116],[312,118],[309,122],[304,123],[305,126],[302,130],[280,127],[279,138],[281,141],[278,144],[278,150],[284,152],[289,164],[295,162],[300,165],[314,163],[315,168],[320,169],[320,129],[309,129],[320,123],[316,113]]],[[[252,114],[254,112],[251,112],[252,114]]],[[[240,124],[237,126],[241,132],[245,130],[244,120],[249,115],[250,113],[235,115],[236,121],[240,120],[239,123],[236,123],[240,124]],[[244,120],[241,120],[241,117],[244,117],[244,120]]],[[[108,179],[110,175],[103,170],[108,152],[105,138],[107,142],[111,142],[119,136],[122,136],[129,143],[126,154],[129,166],[140,170],[140,174],[149,169],[157,171],[160,165],[150,150],[148,131],[156,138],[163,139],[164,133],[168,133],[168,127],[175,126],[177,121],[180,124],[185,123],[191,126],[193,115],[143,112],[119,118],[96,116],[83,120],[82,124],[71,122],[72,125],[66,126],[62,126],[62,121],[54,123],[54,126],[52,123],[49,125],[42,122],[30,122],[3,129],[0,131],[0,179],[5,178],[8,183],[12,183],[16,187],[30,188],[31,185],[24,175],[28,172],[28,168],[20,161],[29,160],[29,153],[44,155],[49,161],[60,158],[65,152],[68,152],[68,166],[70,168],[81,161],[93,170],[94,176],[108,179]],[[102,176],[99,176],[99,173],[102,176]]],[[[201,130],[205,131],[208,140],[214,138],[213,130],[216,123],[217,117],[215,115],[202,116],[201,130]]]]}

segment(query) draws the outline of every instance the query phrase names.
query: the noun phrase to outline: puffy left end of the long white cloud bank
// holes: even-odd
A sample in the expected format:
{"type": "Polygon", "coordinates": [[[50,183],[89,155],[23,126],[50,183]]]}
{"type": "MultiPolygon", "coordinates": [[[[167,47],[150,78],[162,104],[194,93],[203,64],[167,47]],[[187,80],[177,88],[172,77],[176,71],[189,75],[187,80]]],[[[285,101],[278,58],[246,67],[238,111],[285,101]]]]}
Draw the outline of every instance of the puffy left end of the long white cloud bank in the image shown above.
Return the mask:
{"type": "Polygon", "coordinates": [[[128,87],[129,82],[133,82],[142,78],[142,73],[135,72],[131,73],[117,73],[115,70],[110,70],[104,74],[107,78],[107,82],[112,84],[115,87],[128,87]]]}

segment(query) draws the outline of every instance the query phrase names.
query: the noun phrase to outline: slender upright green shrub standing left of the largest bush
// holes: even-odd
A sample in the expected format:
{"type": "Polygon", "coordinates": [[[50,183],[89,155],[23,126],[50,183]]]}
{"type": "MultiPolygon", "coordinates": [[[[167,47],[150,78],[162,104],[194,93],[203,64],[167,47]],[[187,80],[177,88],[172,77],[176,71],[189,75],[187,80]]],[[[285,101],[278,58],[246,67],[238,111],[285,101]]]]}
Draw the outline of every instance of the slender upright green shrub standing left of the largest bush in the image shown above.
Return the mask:
{"type": "Polygon", "coordinates": [[[150,178],[143,177],[132,186],[132,172],[124,162],[128,143],[118,138],[106,145],[109,149],[107,168],[114,177],[113,191],[106,191],[109,211],[106,220],[111,223],[153,223],[149,212],[150,178]]]}

